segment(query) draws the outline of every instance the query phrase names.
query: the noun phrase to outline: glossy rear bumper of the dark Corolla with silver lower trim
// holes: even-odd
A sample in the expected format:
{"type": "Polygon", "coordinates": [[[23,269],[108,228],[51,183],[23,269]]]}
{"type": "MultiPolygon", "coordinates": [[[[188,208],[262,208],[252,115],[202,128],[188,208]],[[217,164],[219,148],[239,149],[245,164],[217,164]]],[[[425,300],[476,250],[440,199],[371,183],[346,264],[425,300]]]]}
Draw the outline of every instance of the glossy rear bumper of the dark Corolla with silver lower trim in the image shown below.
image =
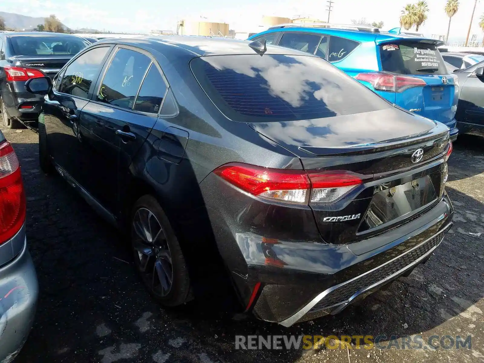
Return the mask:
{"type": "Polygon", "coordinates": [[[217,197],[212,194],[206,202],[219,253],[242,304],[257,318],[285,326],[337,313],[413,268],[441,242],[432,238],[443,237],[454,213],[445,194],[420,217],[352,243],[350,249],[321,241],[313,230],[313,216],[308,214],[306,219],[303,208],[287,216],[277,206],[268,209],[240,192],[232,197],[230,187],[215,179],[206,181],[202,188],[218,184],[214,186],[217,197]],[[222,200],[227,197],[230,203],[222,200]],[[422,247],[422,241],[432,242],[422,247]],[[398,264],[392,262],[395,257],[401,257],[398,264]],[[359,279],[362,276],[366,278],[359,279]],[[356,280],[358,284],[350,284],[356,280]]]}

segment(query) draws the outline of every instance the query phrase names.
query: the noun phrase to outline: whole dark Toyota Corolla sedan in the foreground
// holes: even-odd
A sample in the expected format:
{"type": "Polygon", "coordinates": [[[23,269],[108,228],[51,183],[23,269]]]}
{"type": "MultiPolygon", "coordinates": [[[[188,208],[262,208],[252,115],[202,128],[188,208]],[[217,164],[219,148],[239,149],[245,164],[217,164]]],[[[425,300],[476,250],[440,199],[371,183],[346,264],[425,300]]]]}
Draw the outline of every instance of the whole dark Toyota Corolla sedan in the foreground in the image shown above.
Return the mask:
{"type": "Polygon", "coordinates": [[[263,320],[335,314],[425,261],[452,224],[449,129],[306,53],[110,39],[26,87],[45,94],[42,169],[130,236],[166,306],[227,276],[263,320]]]}

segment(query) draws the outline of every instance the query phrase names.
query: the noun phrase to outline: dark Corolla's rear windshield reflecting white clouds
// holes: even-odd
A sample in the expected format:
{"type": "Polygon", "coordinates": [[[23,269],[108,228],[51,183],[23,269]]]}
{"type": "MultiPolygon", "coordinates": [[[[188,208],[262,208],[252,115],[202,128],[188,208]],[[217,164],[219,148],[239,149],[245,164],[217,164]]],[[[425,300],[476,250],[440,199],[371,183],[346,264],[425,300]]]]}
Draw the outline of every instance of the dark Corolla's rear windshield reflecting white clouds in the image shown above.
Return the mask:
{"type": "Polygon", "coordinates": [[[318,57],[225,55],[190,62],[212,102],[231,120],[318,119],[390,107],[318,57]]]}

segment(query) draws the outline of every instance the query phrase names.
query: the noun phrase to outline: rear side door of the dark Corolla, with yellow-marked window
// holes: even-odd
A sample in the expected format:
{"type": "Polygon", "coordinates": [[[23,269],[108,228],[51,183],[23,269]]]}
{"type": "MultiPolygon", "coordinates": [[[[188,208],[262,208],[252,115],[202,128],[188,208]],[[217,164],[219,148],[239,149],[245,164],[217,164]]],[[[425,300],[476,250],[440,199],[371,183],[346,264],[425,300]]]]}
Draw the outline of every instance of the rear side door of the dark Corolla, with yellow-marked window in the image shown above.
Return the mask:
{"type": "Polygon", "coordinates": [[[82,184],[114,214],[120,212],[121,181],[155,124],[166,92],[152,61],[140,49],[118,46],[92,101],[82,110],[80,136],[89,165],[83,171],[82,184]],[[150,82],[156,95],[146,90],[150,82]]]}

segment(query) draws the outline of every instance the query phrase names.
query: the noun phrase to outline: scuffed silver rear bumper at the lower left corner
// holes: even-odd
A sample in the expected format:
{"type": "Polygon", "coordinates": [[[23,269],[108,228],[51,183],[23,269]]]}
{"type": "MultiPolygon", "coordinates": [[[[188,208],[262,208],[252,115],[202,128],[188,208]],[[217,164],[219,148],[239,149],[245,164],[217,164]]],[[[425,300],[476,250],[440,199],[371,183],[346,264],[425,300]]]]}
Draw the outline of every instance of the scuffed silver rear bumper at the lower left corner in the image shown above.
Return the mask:
{"type": "Polygon", "coordinates": [[[12,362],[27,340],[38,294],[37,275],[24,238],[20,254],[0,268],[0,363],[12,362]]]}

